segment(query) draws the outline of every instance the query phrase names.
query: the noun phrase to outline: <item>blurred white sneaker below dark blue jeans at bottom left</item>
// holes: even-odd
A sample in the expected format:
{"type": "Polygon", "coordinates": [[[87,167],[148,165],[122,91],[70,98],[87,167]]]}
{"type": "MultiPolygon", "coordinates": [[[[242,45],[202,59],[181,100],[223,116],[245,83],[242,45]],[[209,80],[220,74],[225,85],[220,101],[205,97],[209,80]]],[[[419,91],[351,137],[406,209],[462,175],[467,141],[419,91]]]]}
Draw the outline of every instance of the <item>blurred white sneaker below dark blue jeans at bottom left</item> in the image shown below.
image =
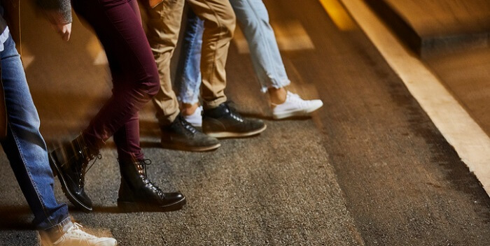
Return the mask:
{"type": "Polygon", "coordinates": [[[118,242],[114,238],[97,238],[82,231],[83,226],[73,223],[66,233],[61,236],[53,246],[116,246],[118,242]]]}

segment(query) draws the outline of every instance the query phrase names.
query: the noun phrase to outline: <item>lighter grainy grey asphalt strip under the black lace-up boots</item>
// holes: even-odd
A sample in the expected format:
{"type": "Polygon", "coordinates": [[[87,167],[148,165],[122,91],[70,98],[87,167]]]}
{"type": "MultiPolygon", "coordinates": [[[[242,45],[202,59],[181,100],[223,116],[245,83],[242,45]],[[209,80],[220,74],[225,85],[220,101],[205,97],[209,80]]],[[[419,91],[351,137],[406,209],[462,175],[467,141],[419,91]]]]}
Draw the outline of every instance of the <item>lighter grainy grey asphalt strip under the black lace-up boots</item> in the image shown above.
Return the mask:
{"type": "MultiPolygon", "coordinates": [[[[267,124],[262,136],[223,140],[216,152],[147,148],[151,179],[188,197],[177,212],[118,212],[120,175],[114,150],[106,149],[86,179],[94,212],[72,215],[121,245],[363,245],[313,122],[267,124]]],[[[0,187],[6,229],[0,245],[35,245],[36,234],[24,231],[29,209],[4,155],[0,165],[0,180],[9,181],[0,187]]]]}

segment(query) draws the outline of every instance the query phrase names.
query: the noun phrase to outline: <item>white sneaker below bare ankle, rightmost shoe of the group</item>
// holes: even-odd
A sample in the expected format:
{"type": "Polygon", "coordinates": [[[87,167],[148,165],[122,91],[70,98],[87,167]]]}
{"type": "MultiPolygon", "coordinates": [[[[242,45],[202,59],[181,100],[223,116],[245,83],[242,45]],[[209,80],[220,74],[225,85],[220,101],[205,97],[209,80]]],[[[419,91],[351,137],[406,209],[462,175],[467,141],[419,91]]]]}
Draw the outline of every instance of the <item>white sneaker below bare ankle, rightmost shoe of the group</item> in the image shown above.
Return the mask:
{"type": "Polygon", "coordinates": [[[288,92],[286,101],[281,104],[272,105],[272,116],[274,119],[284,119],[287,117],[307,116],[309,113],[323,106],[321,100],[303,100],[297,94],[288,92]]]}

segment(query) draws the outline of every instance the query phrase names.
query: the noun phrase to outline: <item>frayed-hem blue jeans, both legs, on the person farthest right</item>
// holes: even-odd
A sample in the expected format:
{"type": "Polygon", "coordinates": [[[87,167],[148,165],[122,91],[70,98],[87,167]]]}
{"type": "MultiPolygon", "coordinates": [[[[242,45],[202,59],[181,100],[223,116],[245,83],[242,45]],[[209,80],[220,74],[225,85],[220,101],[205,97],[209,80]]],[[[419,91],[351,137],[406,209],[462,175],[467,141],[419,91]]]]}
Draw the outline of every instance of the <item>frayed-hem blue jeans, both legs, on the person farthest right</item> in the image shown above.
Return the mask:
{"type": "MultiPolygon", "coordinates": [[[[230,0],[230,3],[248,43],[262,92],[267,92],[269,87],[281,88],[289,85],[290,80],[262,0],[230,0]]],[[[203,30],[202,20],[190,13],[183,43],[183,73],[178,80],[179,100],[183,103],[197,102],[201,82],[199,65],[203,30]]]]}

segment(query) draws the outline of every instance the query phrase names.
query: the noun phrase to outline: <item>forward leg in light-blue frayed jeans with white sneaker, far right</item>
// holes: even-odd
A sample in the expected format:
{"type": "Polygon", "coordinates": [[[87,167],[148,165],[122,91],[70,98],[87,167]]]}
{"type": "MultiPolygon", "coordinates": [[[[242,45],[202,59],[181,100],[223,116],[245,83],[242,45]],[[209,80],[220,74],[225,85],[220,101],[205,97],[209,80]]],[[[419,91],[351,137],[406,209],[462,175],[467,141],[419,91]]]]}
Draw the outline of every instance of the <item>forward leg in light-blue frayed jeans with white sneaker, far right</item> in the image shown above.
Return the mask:
{"type": "Polygon", "coordinates": [[[274,30],[262,0],[230,0],[248,43],[255,74],[268,92],[276,119],[304,116],[320,108],[320,100],[306,101],[286,90],[290,84],[281,59],[274,30]]]}

